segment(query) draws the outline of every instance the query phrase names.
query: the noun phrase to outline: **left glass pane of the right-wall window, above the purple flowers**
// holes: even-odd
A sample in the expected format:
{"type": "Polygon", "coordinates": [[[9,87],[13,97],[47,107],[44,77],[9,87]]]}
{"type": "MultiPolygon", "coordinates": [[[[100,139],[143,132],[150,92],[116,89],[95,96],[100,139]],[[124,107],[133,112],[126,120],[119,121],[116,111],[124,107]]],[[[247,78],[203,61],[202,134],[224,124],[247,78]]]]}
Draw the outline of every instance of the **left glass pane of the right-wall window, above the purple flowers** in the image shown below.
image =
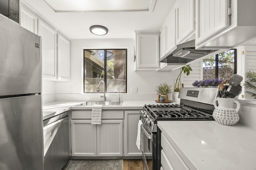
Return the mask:
{"type": "Polygon", "coordinates": [[[215,55],[203,59],[203,80],[215,78],[215,55]]]}

